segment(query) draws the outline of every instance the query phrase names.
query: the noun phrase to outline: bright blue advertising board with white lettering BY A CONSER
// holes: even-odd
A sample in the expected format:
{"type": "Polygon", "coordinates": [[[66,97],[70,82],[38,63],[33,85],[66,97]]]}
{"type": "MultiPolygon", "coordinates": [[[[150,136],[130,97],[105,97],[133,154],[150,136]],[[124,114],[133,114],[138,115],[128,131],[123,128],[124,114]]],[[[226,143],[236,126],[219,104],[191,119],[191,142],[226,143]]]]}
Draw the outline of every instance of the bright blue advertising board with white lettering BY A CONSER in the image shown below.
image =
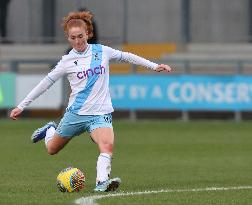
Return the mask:
{"type": "Polygon", "coordinates": [[[252,110],[252,77],[112,75],[115,109],[252,110]]]}

